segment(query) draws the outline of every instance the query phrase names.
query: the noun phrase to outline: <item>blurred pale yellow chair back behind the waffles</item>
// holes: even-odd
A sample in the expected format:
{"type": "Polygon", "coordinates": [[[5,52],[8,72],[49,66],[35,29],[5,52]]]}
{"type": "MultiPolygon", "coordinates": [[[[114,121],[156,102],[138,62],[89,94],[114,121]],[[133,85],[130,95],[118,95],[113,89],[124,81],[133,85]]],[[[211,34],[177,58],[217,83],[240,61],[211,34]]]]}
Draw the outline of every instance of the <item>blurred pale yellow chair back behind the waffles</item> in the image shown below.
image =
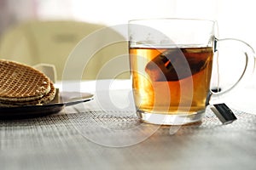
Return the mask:
{"type": "MultiPolygon", "coordinates": [[[[106,26],[72,20],[22,23],[3,33],[0,40],[0,59],[11,59],[26,65],[38,65],[40,63],[55,65],[57,79],[61,80],[67,58],[73,48],[84,37],[104,27],[106,26]]],[[[120,35],[117,33],[117,36],[120,35]]],[[[111,37],[106,35],[102,38],[111,37]]],[[[100,47],[101,41],[102,39],[96,39],[93,43],[100,47]]],[[[88,65],[84,65],[82,79],[96,79],[102,65],[113,57],[127,54],[126,48],[126,42],[115,43],[104,48],[100,47],[96,54],[90,56],[88,65]]],[[[121,76],[121,78],[128,77],[128,74],[121,76]]],[[[73,79],[73,77],[68,78],[73,79]]],[[[108,72],[106,72],[103,78],[112,77],[108,77],[108,72]]]]}

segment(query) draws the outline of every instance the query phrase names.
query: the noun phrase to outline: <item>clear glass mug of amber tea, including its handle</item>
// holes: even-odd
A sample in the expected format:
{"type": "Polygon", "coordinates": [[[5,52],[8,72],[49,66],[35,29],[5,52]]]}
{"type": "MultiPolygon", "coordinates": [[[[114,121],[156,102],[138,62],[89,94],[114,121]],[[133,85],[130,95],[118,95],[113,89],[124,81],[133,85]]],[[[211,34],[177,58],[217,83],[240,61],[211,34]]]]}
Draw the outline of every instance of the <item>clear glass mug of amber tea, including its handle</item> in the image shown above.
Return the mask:
{"type": "MultiPolygon", "coordinates": [[[[236,39],[218,40],[212,20],[130,20],[129,55],[133,97],[143,122],[183,125],[199,122],[209,100],[226,94],[250,72],[253,49],[236,39]],[[222,44],[233,44],[246,57],[244,71],[234,85],[211,91],[212,63],[222,44]],[[251,54],[250,54],[251,53],[251,54]]],[[[236,48],[236,47],[234,47],[236,48]]]]}

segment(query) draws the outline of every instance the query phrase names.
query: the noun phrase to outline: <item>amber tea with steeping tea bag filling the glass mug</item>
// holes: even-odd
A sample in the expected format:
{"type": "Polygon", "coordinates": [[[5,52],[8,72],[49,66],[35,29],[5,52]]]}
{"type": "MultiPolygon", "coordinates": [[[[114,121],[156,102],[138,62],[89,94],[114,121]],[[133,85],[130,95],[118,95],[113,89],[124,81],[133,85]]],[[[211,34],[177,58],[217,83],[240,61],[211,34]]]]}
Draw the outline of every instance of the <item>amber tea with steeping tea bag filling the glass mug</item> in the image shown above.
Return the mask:
{"type": "Polygon", "coordinates": [[[130,55],[137,111],[172,115],[205,110],[212,48],[130,48],[130,55]]]}

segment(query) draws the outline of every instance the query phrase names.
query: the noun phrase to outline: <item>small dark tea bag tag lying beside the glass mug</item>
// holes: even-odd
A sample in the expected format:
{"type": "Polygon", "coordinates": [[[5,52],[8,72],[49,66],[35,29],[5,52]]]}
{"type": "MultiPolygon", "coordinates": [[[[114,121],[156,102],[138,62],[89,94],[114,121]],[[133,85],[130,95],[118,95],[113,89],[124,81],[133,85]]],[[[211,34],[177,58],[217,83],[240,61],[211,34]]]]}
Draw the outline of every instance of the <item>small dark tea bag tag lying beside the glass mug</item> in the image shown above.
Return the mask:
{"type": "Polygon", "coordinates": [[[223,124],[229,124],[237,119],[233,111],[224,103],[211,105],[210,108],[223,124]]]}

